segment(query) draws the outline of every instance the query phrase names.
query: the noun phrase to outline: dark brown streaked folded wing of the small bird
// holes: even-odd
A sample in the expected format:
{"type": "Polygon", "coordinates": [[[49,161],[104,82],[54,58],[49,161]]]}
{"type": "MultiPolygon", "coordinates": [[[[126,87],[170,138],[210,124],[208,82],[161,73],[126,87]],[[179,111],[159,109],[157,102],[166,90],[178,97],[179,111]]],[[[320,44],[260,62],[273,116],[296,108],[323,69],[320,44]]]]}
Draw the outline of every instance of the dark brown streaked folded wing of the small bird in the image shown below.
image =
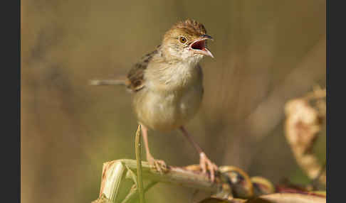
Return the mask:
{"type": "MultiPolygon", "coordinates": [[[[159,48],[159,46],[157,47],[159,48]]],[[[157,54],[157,50],[143,56],[140,62],[137,62],[127,74],[126,87],[132,92],[137,92],[144,87],[144,71],[152,59],[153,55],[157,54]]]]}

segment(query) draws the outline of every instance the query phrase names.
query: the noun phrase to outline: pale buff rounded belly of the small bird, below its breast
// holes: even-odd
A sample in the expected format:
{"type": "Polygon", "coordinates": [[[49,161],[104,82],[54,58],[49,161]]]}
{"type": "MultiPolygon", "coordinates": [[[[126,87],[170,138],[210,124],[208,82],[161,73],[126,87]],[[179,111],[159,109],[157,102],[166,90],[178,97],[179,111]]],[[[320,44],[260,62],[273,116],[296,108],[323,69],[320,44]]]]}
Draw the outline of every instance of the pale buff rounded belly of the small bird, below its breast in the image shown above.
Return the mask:
{"type": "Polygon", "coordinates": [[[201,84],[192,85],[183,91],[157,92],[142,89],[135,94],[135,113],[140,123],[154,131],[172,131],[194,117],[202,96],[201,84]]]}

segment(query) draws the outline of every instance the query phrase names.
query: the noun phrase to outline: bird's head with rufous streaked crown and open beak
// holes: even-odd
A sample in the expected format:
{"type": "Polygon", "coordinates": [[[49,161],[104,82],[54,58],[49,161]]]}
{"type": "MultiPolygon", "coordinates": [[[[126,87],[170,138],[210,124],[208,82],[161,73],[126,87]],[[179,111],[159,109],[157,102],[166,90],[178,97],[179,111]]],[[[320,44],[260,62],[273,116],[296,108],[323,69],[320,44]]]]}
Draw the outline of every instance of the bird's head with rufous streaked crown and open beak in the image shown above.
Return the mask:
{"type": "Polygon", "coordinates": [[[188,19],[175,23],[164,34],[162,49],[169,59],[199,62],[204,55],[214,57],[206,48],[206,40],[213,38],[206,35],[203,24],[188,19]]]}

